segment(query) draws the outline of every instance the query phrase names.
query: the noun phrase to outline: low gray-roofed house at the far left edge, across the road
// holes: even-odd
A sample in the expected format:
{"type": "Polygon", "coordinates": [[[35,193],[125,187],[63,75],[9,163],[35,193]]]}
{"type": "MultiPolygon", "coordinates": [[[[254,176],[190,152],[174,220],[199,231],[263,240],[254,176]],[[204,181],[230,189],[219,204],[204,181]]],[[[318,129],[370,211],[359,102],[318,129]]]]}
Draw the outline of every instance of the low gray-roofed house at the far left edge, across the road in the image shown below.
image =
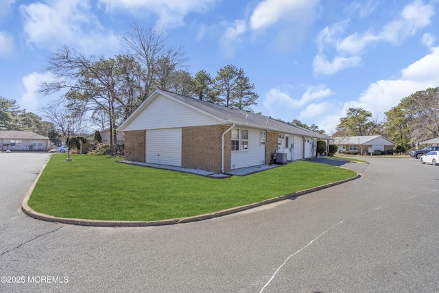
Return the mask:
{"type": "Polygon", "coordinates": [[[50,139],[30,131],[0,130],[1,150],[49,150],[50,139]]]}

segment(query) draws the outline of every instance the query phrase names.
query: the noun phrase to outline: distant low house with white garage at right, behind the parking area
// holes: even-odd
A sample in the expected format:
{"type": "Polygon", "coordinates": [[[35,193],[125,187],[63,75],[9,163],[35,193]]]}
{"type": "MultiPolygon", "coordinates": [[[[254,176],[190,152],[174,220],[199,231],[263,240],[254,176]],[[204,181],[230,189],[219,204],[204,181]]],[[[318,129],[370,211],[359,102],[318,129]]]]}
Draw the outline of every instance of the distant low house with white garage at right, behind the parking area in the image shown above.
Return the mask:
{"type": "Polygon", "coordinates": [[[359,154],[368,154],[370,150],[393,150],[394,142],[382,135],[365,135],[359,137],[333,137],[338,152],[346,150],[358,151],[359,154]]]}

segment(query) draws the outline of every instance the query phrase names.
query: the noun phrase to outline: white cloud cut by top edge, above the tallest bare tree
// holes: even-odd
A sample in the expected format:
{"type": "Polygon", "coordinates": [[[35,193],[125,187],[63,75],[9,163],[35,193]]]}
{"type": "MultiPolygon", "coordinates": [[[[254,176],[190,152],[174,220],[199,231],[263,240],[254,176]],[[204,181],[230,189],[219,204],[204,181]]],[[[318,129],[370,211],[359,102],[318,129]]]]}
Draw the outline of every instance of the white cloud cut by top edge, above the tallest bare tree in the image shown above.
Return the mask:
{"type": "Polygon", "coordinates": [[[127,10],[132,14],[156,14],[160,27],[183,25],[191,12],[206,12],[217,0],[99,0],[108,11],[127,10]]]}

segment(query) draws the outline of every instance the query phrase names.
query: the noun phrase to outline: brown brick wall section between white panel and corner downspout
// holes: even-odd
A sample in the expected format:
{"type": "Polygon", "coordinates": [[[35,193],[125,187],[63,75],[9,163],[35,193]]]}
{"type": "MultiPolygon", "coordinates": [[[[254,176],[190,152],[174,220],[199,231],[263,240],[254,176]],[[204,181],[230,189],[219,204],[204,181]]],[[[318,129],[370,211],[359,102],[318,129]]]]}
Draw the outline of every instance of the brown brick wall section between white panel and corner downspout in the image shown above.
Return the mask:
{"type": "MultiPolygon", "coordinates": [[[[221,172],[222,134],[227,126],[182,128],[182,167],[221,172]]],[[[230,131],[224,136],[224,172],[230,171],[230,131]]]]}

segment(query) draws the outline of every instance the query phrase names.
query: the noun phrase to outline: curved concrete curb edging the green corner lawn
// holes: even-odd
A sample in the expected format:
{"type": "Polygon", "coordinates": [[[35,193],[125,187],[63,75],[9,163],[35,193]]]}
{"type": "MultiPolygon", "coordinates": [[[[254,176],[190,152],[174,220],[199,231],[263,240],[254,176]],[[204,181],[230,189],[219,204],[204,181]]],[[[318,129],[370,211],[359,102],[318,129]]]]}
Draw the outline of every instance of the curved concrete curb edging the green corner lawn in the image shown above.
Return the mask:
{"type": "Polygon", "coordinates": [[[187,217],[187,218],[176,218],[176,219],[169,219],[169,220],[159,220],[159,221],[111,221],[111,220],[86,220],[86,219],[74,219],[74,218],[58,218],[53,217],[51,215],[46,215],[44,213],[38,213],[37,211],[34,211],[27,202],[29,201],[29,198],[32,194],[32,191],[34,191],[34,187],[36,183],[38,182],[38,178],[40,178],[40,175],[43,173],[43,170],[46,165],[41,169],[40,174],[38,174],[38,177],[36,178],[34,184],[32,187],[27,191],[27,194],[25,198],[23,199],[23,202],[21,203],[21,210],[26,214],[29,215],[29,217],[32,217],[37,220],[43,220],[47,222],[57,222],[61,224],[72,224],[72,225],[79,225],[79,226],[100,226],[100,227],[143,227],[143,226],[163,226],[163,225],[172,225],[172,224],[180,224],[180,223],[189,223],[189,222],[198,222],[202,220],[208,220],[213,218],[222,217],[224,215],[230,215],[232,213],[238,213],[239,211],[246,211],[248,209],[254,209],[255,207],[261,207],[265,204],[271,204],[273,202],[279,202],[281,200],[287,200],[289,198],[298,198],[299,196],[304,196],[305,194],[310,194],[311,192],[326,189],[329,187],[333,187],[335,185],[340,185],[342,183],[346,183],[351,180],[355,180],[357,178],[360,178],[361,175],[357,173],[357,176],[354,176],[352,178],[336,181],[333,183],[328,183],[325,185],[321,185],[318,187],[313,187],[310,189],[305,189],[302,191],[297,191],[292,194],[286,194],[285,196],[278,196],[277,198],[270,198],[268,200],[263,200],[261,202],[254,202],[252,204],[246,204],[241,207],[233,207],[230,209],[224,209],[222,211],[215,211],[213,213],[206,213],[204,215],[195,215],[193,217],[187,217]]]}

